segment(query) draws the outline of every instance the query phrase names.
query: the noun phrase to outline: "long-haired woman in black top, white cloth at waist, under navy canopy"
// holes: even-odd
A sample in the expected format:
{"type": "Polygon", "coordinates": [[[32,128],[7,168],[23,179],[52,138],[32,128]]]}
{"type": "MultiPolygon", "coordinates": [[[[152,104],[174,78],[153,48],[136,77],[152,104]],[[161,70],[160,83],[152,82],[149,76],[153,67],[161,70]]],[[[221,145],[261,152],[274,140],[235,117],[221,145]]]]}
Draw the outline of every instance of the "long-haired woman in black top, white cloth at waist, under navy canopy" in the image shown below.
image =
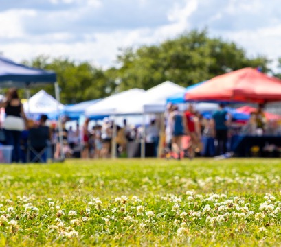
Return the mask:
{"type": "Polygon", "coordinates": [[[5,121],[3,128],[5,130],[5,140],[7,145],[12,145],[12,162],[19,163],[21,156],[21,132],[25,129],[27,118],[23,111],[23,105],[17,89],[9,89],[5,100],[1,103],[5,108],[5,121]]]}

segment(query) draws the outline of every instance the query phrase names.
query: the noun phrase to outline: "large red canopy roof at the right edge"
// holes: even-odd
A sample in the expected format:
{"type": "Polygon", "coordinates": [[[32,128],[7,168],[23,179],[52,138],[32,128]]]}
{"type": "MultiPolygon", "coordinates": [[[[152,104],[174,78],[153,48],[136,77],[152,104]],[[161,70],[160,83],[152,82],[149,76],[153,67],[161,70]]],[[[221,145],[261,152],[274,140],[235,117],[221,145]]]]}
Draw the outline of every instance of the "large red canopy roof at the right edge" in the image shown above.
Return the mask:
{"type": "Polygon", "coordinates": [[[186,92],[186,101],[266,103],[281,101],[281,80],[245,68],[218,75],[186,92]]]}

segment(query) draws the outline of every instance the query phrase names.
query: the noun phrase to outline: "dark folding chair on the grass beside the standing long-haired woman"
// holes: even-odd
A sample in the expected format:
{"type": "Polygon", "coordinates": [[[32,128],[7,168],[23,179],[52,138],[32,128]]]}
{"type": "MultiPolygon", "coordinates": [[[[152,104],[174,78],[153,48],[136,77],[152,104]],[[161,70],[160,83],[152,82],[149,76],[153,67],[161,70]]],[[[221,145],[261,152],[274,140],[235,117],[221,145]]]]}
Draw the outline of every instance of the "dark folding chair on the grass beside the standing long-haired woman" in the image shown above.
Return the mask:
{"type": "Polygon", "coordinates": [[[27,162],[46,163],[49,141],[49,127],[31,128],[27,145],[27,162]]]}

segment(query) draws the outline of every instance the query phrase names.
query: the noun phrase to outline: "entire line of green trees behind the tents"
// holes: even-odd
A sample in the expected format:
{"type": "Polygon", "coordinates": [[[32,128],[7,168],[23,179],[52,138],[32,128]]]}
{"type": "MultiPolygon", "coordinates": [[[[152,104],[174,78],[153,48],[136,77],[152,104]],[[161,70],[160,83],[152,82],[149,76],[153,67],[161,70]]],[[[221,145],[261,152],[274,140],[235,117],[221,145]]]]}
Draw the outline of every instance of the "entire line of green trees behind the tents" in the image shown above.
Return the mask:
{"type": "MultiPolygon", "coordinates": [[[[63,104],[98,99],[127,89],[150,89],[166,80],[190,86],[244,67],[271,72],[271,60],[267,57],[249,58],[236,43],[210,38],[207,30],[184,32],[159,45],[120,49],[117,66],[109,69],[90,62],[48,56],[38,56],[24,63],[56,72],[63,104]]],[[[279,64],[281,67],[281,58],[279,64]]],[[[281,78],[281,74],[276,76],[281,78]]],[[[54,94],[53,86],[45,86],[44,90],[54,94]]]]}

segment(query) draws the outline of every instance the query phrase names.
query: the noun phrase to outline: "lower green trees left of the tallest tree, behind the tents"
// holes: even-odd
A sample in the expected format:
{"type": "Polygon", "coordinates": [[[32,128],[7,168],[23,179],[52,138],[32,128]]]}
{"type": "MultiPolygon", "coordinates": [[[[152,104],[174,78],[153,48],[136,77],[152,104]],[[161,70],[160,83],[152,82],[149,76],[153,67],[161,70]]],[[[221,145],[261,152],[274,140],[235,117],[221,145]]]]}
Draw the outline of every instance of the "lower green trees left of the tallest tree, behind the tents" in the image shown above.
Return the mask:
{"type": "MultiPolygon", "coordinates": [[[[63,104],[74,104],[91,99],[105,97],[114,89],[113,80],[106,76],[102,69],[93,67],[89,62],[74,62],[68,58],[50,59],[38,56],[32,62],[26,62],[32,67],[48,69],[56,72],[60,86],[60,99],[63,104]]],[[[54,95],[54,86],[43,87],[47,93],[54,95]]],[[[32,93],[38,91],[33,89],[32,93]]]]}

